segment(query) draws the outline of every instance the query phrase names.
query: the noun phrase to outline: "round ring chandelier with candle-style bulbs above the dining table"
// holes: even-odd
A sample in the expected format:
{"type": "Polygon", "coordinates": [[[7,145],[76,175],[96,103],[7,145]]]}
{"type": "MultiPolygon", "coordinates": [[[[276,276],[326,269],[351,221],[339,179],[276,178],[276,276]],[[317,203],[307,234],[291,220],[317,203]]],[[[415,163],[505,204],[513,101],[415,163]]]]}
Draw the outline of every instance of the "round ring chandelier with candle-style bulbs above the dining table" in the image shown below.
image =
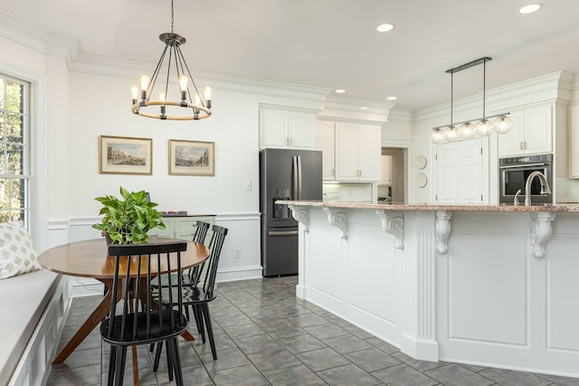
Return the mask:
{"type": "MultiPolygon", "coordinates": [[[[149,78],[143,75],[140,80],[140,89],[138,86],[131,88],[133,103],[131,111],[141,117],[169,119],[169,120],[197,120],[211,117],[211,88],[204,89],[204,98],[201,97],[195,80],[191,76],[191,71],[185,62],[181,45],[185,44],[185,37],[173,32],[174,11],[173,0],[171,0],[171,32],[161,33],[159,40],[165,43],[165,49],[161,58],[157,62],[157,67],[153,75],[149,78]],[[155,91],[157,78],[168,53],[168,62],[166,64],[166,76],[163,75],[164,81],[159,81],[160,92],[157,100],[151,100],[151,95],[155,91]],[[174,66],[174,74],[171,73],[174,66]],[[169,89],[169,80],[171,75],[175,76],[173,89],[169,89]],[[172,92],[173,91],[173,92],[172,92]],[[171,100],[172,97],[178,97],[179,100],[171,100]],[[159,113],[153,114],[146,112],[147,108],[154,106],[159,107],[159,113]],[[167,113],[167,107],[171,109],[171,114],[167,113]],[[173,114],[175,112],[175,114],[173,114]]],[[[175,98],[177,99],[177,98],[175,98]]]]}

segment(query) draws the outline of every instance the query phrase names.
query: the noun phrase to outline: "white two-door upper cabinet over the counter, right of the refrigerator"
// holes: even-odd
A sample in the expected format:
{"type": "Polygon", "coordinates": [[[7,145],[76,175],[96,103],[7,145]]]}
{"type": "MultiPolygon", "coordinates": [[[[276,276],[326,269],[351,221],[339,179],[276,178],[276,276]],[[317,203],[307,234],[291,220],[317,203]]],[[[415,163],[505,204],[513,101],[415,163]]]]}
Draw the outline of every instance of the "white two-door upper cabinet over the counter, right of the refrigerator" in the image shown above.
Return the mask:
{"type": "Polygon", "coordinates": [[[382,129],[336,122],[336,180],[380,181],[382,129]]]}

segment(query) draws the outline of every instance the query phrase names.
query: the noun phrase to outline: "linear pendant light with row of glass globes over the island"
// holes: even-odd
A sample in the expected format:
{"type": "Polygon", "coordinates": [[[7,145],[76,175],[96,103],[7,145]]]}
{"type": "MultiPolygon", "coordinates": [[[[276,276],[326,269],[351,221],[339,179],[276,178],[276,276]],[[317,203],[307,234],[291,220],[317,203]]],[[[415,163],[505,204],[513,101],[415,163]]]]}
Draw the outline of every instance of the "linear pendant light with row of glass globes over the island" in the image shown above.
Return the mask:
{"type": "Polygon", "coordinates": [[[487,61],[490,61],[489,57],[483,57],[477,59],[476,61],[470,61],[468,63],[462,64],[459,67],[455,67],[451,70],[447,70],[447,73],[451,74],[451,125],[448,127],[440,126],[433,127],[431,133],[431,142],[434,144],[441,144],[446,141],[455,141],[459,137],[462,139],[470,139],[475,135],[479,137],[489,137],[493,132],[498,134],[505,134],[510,131],[513,127],[511,120],[507,117],[508,113],[498,114],[494,116],[486,116],[486,80],[487,80],[487,61]],[[483,64],[482,72],[482,118],[470,119],[459,123],[452,122],[452,82],[454,72],[470,69],[470,67],[483,64]],[[490,122],[489,118],[497,118],[494,122],[490,122]],[[472,121],[478,121],[476,124],[472,124],[472,121]],[[456,126],[455,126],[456,125],[456,126]],[[457,126],[460,128],[457,129],[457,126]]]}

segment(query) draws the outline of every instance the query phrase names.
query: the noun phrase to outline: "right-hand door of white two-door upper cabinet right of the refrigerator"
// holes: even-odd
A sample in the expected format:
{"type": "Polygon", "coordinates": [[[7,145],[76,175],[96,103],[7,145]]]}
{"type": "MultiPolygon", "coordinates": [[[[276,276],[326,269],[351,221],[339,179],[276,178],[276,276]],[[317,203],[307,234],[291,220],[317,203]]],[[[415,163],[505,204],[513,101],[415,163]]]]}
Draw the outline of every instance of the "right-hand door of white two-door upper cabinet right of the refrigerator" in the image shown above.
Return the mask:
{"type": "Polygon", "coordinates": [[[361,181],[379,182],[382,128],[360,125],[358,128],[358,170],[361,181]]]}

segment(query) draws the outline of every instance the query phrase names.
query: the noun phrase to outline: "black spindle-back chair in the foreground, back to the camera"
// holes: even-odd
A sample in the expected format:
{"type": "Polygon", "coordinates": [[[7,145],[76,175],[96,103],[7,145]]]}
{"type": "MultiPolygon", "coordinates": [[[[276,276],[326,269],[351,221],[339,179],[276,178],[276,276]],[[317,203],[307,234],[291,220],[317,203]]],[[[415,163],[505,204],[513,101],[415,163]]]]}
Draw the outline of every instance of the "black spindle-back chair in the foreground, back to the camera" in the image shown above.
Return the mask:
{"type": "Polygon", "coordinates": [[[176,384],[183,385],[177,342],[187,325],[181,300],[183,276],[162,275],[158,284],[166,291],[157,291],[157,303],[153,301],[151,281],[162,269],[180,272],[181,252],[186,249],[186,241],[109,246],[109,259],[115,264],[112,300],[109,315],[100,324],[102,340],[110,344],[109,385],[122,385],[129,346],[162,342],[167,347],[169,380],[173,381],[175,374],[176,384]]]}

